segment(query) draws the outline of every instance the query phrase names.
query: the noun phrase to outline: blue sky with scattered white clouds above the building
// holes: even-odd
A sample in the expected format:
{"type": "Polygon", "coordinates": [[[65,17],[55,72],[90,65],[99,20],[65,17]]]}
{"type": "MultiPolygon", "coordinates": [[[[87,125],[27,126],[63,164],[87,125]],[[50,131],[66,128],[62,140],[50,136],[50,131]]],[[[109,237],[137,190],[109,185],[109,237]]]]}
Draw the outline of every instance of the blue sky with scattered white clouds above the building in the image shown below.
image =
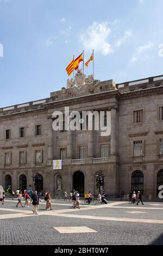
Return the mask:
{"type": "Polygon", "coordinates": [[[0,107],[66,87],[83,50],[86,60],[95,49],[101,81],[163,74],[162,10],[163,0],[0,0],[0,107]]]}

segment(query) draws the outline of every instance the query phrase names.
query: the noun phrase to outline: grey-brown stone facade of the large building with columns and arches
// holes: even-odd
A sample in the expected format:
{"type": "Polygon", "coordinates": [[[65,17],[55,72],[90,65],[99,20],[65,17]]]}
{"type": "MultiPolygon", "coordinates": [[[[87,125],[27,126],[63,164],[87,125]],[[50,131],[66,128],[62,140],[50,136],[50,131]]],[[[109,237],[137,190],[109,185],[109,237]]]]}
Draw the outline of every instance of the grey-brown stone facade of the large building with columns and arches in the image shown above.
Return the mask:
{"type": "Polygon", "coordinates": [[[121,84],[88,79],[77,87],[69,83],[47,99],[1,108],[0,142],[5,190],[31,185],[53,196],[73,188],[97,194],[101,170],[100,188],[107,194],[142,190],[155,198],[163,185],[163,76],[121,84]],[[64,123],[62,131],[54,131],[53,112],[65,107],[80,113],[110,111],[111,134],[64,131],[64,123]],[[62,169],[53,170],[52,160],[59,159],[62,169]]]}

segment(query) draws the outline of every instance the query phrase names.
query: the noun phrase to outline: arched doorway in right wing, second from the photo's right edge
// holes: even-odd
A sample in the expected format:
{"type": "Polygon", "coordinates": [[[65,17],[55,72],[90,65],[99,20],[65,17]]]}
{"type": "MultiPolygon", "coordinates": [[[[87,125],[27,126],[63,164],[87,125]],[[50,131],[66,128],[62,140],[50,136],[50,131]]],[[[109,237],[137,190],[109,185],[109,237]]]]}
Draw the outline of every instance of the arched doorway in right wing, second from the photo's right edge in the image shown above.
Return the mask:
{"type": "Polygon", "coordinates": [[[144,174],[140,170],[136,170],[131,176],[131,190],[142,191],[144,190],[144,174]]]}

